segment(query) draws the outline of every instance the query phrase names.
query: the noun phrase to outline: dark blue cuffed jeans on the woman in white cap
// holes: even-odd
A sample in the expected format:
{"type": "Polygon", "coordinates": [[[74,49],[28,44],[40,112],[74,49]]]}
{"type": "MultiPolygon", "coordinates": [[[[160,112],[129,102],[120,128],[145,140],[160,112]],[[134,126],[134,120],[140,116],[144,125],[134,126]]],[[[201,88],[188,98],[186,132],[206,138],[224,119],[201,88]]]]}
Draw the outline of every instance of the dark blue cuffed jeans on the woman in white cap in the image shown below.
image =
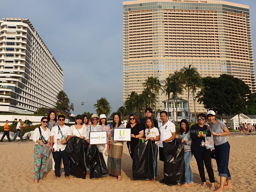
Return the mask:
{"type": "Polygon", "coordinates": [[[226,142],[221,145],[214,145],[214,148],[214,154],[216,157],[219,176],[227,177],[227,180],[231,180],[231,175],[228,170],[228,160],[230,151],[229,143],[226,142]]]}

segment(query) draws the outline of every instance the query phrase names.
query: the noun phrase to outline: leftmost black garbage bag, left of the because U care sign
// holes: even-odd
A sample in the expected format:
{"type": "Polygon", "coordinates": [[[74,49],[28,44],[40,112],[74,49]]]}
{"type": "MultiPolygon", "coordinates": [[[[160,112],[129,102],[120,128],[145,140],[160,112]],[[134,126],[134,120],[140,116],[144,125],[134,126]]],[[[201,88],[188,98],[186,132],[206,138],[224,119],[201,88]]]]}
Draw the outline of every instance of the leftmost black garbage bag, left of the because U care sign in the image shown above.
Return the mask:
{"type": "Polygon", "coordinates": [[[69,157],[70,174],[85,179],[85,153],[83,139],[72,137],[65,148],[65,152],[69,157]]]}

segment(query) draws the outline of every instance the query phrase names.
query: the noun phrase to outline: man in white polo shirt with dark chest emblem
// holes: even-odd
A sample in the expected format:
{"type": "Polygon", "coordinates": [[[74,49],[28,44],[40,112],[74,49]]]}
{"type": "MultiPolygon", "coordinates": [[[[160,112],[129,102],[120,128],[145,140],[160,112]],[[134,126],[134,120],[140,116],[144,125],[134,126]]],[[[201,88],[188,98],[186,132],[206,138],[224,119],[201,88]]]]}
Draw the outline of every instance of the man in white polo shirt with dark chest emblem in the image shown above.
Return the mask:
{"type": "MultiPolygon", "coordinates": [[[[160,141],[159,141],[159,160],[164,161],[163,142],[168,143],[176,137],[175,125],[168,120],[167,112],[161,111],[160,118],[162,123],[160,124],[160,141]]],[[[160,183],[164,183],[164,179],[160,180],[160,183]]]]}

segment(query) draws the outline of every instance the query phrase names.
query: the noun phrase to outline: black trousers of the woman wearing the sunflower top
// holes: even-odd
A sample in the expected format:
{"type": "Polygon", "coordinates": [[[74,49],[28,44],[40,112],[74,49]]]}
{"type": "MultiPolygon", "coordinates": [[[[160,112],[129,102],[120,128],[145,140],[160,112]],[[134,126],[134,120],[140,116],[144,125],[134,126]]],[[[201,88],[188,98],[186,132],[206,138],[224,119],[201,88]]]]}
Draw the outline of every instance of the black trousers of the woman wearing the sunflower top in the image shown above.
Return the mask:
{"type": "Polygon", "coordinates": [[[212,170],[212,160],[211,160],[211,149],[195,150],[192,151],[198,167],[198,172],[201,177],[202,182],[206,182],[204,165],[208,173],[208,177],[211,183],[215,183],[214,173],[212,170]]]}

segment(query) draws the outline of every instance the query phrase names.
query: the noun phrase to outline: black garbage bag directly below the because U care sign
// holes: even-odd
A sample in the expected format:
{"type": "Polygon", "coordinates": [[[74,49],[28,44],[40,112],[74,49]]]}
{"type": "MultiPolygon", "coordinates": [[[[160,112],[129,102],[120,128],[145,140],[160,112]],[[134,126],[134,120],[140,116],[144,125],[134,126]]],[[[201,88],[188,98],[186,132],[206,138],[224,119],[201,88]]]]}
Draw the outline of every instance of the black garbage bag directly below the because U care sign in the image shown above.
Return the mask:
{"type": "Polygon", "coordinates": [[[103,154],[99,152],[96,145],[87,146],[85,158],[90,165],[90,179],[108,175],[108,168],[104,161],[103,154]]]}

